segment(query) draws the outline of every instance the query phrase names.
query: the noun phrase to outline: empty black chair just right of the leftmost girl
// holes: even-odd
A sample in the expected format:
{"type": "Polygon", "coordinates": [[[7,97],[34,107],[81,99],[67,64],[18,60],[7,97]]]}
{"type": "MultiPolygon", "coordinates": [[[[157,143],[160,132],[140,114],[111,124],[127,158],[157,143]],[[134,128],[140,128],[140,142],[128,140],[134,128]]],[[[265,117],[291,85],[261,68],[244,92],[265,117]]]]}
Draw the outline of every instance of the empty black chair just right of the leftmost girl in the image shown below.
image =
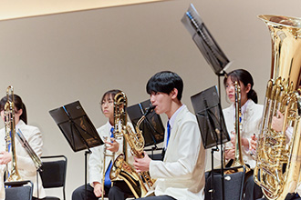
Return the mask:
{"type": "MultiPolygon", "coordinates": [[[[40,172],[44,188],[62,187],[64,200],[66,200],[65,184],[67,173],[67,157],[65,155],[42,156],[42,171],[40,172]]],[[[60,198],[47,196],[45,200],[60,198]]]]}

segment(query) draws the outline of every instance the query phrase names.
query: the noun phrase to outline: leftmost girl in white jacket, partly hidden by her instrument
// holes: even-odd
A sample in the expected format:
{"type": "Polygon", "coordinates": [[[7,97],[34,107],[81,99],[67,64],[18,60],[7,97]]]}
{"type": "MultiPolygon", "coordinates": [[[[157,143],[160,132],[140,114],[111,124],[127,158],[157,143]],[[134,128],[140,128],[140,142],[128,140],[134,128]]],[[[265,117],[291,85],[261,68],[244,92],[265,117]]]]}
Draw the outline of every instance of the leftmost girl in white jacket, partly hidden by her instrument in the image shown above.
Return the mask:
{"type": "MultiPolygon", "coordinates": [[[[9,96],[10,100],[12,95],[9,96]]],[[[26,125],[26,105],[23,104],[22,99],[19,95],[14,95],[15,101],[15,122],[16,132],[20,129],[22,134],[25,136],[28,144],[35,151],[37,156],[42,155],[42,135],[40,130],[32,125],[26,125]]],[[[4,119],[4,106],[7,99],[6,96],[1,99],[0,110],[1,116],[4,119]]],[[[42,185],[40,175],[36,173],[36,165],[31,159],[30,155],[26,152],[26,149],[15,139],[16,145],[16,166],[19,175],[23,180],[30,180],[34,184],[33,199],[40,199],[46,196],[45,190],[42,185]],[[38,175],[38,184],[36,182],[36,175],[38,175]]],[[[8,172],[12,168],[12,153],[5,151],[5,128],[0,130],[0,165],[8,164],[8,172]]]]}

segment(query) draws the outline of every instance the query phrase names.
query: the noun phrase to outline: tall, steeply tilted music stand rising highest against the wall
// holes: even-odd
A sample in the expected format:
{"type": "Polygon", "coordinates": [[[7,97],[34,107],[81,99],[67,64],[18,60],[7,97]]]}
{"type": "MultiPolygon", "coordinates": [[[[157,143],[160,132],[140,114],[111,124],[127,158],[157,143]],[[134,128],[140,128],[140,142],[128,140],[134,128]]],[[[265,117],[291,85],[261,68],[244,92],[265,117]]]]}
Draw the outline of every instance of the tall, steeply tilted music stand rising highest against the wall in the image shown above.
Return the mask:
{"type": "Polygon", "coordinates": [[[225,75],[224,71],[231,65],[231,62],[223,54],[223,50],[214,40],[213,35],[210,34],[209,29],[202,22],[201,16],[192,4],[181,21],[192,35],[192,40],[198,46],[207,63],[213,68],[215,75],[218,75],[218,91],[220,92],[220,76],[225,75]]]}

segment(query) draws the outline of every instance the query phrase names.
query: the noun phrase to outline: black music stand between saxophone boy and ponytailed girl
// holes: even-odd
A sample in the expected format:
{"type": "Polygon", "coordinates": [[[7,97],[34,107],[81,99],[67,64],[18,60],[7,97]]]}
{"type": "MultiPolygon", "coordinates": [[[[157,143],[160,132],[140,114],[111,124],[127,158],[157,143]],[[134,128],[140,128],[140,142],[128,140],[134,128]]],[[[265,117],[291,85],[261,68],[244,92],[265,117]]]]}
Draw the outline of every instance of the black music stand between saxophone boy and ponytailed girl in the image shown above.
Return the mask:
{"type": "MultiPolygon", "coordinates": [[[[202,135],[202,144],[204,148],[212,148],[212,199],[214,199],[213,185],[213,153],[218,151],[218,145],[230,141],[230,135],[227,132],[223,112],[220,105],[220,98],[216,86],[212,86],[201,93],[192,95],[192,106],[198,120],[202,135]]],[[[221,174],[222,174],[222,195],[223,191],[223,148],[221,149],[221,174]]],[[[224,199],[224,198],[223,198],[224,199]]]]}

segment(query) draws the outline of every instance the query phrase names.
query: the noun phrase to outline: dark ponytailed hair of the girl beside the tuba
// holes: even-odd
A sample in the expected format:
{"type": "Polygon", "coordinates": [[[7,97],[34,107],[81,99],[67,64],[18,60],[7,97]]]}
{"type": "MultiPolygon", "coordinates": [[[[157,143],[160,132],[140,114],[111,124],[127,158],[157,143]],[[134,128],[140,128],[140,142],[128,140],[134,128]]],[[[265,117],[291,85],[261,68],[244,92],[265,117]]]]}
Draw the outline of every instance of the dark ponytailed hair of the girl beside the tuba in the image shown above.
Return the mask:
{"type": "Polygon", "coordinates": [[[255,104],[258,102],[258,97],[256,92],[253,89],[254,81],[252,75],[244,70],[244,69],[236,69],[230,73],[228,73],[224,79],[223,79],[223,85],[226,85],[228,77],[231,77],[231,80],[234,81],[240,81],[244,84],[244,86],[247,86],[248,84],[251,85],[251,89],[247,94],[248,99],[252,99],[255,104]]]}

